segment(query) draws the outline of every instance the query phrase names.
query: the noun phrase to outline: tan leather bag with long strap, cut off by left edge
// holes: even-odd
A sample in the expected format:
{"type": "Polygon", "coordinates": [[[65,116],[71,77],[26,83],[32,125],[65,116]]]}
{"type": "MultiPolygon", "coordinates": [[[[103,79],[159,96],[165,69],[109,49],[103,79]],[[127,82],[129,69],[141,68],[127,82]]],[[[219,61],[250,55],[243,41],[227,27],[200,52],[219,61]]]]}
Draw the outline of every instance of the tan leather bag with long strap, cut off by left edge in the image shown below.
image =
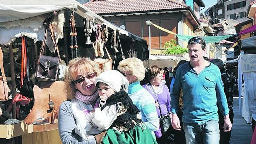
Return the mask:
{"type": "Polygon", "coordinates": [[[1,68],[1,73],[3,75],[3,76],[0,76],[0,101],[6,101],[8,100],[8,92],[10,92],[10,88],[7,85],[7,80],[4,74],[3,51],[1,47],[0,47],[0,68],[1,68]]]}

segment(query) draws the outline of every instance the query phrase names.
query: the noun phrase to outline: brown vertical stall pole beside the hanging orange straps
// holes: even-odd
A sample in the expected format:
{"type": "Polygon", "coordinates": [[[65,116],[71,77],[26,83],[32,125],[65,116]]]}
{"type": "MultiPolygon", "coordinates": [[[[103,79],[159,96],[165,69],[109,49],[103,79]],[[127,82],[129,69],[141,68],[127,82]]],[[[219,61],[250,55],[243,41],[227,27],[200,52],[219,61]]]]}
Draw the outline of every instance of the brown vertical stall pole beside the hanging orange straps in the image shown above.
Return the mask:
{"type": "MultiPolygon", "coordinates": [[[[16,83],[15,83],[15,71],[14,71],[14,61],[13,61],[13,42],[9,45],[9,56],[10,56],[10,69],[11,69],[11,78],[12,78],[12,95],[13,98],[16,95],[16,83]]],[[[13,118],[16,118],[16,104],[13,104],[13,118]]]]}

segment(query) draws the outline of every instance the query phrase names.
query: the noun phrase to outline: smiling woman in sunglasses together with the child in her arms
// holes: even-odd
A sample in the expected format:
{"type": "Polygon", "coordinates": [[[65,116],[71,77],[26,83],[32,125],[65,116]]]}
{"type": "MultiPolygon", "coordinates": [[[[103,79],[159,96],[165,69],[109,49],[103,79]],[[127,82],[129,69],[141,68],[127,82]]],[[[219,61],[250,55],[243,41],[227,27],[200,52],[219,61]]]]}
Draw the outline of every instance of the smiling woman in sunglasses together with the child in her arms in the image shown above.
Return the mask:
{"type": "Polygon", "coordinates": [[[61,104],[58,118],[61,141],[155,144],[146,125],[136,117],[138,108],[125,91],[120,91],[127,91],[129,82],[117,71],[99,74],[96,63],[89,58],[69,62],[65,73],[69,101],[61,104]],[[102,131],[106,134],[101,135],[102,131]]]}

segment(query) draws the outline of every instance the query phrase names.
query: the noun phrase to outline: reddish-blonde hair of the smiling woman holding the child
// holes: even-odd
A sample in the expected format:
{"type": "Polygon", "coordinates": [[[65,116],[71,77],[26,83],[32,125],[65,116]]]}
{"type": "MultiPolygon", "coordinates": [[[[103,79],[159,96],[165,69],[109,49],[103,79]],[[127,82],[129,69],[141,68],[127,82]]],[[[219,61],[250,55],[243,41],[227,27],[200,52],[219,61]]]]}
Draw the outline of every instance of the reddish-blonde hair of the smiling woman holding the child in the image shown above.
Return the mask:
{"type": "Polygon", "coordinates": [[[78,73],[85,74],[87,72],[94,72],[98,76],[101,71],[99,70],[97,63],[90,58],[74,58],[72,59],[66,68],[64,82],[67,97],[69,100],[74,99],[76,88],[74,80],[78,73]]]}

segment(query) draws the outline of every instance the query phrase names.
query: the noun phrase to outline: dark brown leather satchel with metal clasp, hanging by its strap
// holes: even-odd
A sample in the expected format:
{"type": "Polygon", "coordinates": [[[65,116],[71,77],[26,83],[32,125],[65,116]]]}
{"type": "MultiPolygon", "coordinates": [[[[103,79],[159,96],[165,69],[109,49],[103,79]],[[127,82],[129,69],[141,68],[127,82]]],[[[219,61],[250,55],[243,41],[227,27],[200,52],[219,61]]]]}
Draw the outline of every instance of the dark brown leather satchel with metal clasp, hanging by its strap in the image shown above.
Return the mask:
{"type": "Polygon", "coordinates": [[[54,36],[54,31],[53,31],[52,25],[49,24],[49,29],[45,29],[45,38],[43,40],[42,49],[38,59],[38,70],[37,70],[36,76],[39,78],[56,81],[58,76],[58,68],[59,68],[60,61],[61,61],[61,57],[60,57],[58,45],[54,36]],[[56,47],[58,57],[43,55],[44,49],[45,49],[45,40],[46,40],[48,31],[50,31],[51,40],[53,41],[54,46],[56,47]]]}

